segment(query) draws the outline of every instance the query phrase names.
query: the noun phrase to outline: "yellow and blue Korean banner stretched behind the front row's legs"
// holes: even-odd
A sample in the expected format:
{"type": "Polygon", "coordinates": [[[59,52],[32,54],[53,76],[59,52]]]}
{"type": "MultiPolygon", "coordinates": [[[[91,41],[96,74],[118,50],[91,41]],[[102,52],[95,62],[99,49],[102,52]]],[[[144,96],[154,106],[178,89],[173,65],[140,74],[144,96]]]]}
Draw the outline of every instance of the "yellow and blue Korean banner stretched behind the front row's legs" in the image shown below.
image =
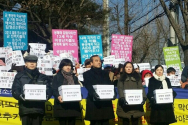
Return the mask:
{"type": "MultiPolygon", "coordinates": [[[[147,90],[146,90],[147,91],[147,90]]],[[[177,123],[170,125],[187,125],[188,124],[188,91],[184,89],[174,89],[177,97],[174,100],[174,113],[177,123]]],[[[147,93],[147,92],[146,92],[147,93]]],[[[82,88],[83,100],[80,102],[82,109],[82,118],[78,118],[76,125],[89,125],[89,121],[84,120],[86,111],[87,90],[82,88]]],[[[118,99],[113,100],[115,119],[110,120],[110,125],[122,125],[122,120],[116,115],[118,99]]],[[[45,116],[42,125],[58,125],[58,120],[53,117],[54,99],[51,98],[45,103],[45,116]]],[[[15,100],[10,89],[0,89],[0,125],[21,125],[18,114],[18,101],[15,100]]],[[[150,125],[150,105],[147,101],[144,105],[145,115],[140,118],[139,125],[150,125]]]]}

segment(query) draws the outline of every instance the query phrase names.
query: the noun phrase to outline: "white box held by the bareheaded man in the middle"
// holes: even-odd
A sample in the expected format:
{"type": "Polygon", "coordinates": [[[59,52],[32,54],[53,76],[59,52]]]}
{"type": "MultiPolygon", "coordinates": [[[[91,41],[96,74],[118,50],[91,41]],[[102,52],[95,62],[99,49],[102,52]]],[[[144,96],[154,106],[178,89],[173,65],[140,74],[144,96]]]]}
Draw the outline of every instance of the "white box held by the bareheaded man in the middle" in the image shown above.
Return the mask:
{"type": "Polygon", "coordinates": [[[100,99],[113,99],[114,85],[93,85],[100,99]]]}

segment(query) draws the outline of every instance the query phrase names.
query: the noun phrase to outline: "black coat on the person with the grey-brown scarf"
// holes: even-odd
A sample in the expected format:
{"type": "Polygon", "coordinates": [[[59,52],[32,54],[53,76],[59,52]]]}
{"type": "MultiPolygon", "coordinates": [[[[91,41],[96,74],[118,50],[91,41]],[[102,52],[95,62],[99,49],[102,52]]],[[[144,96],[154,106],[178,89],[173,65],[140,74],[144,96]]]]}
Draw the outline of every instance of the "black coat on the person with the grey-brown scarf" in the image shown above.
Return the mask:
{"type": "MultiPolygon", "coordinates": [[[[78,78],[73,75],[75,85],[79,85],[78,78]]],[[[63,102],[60,103],[58,100],[59,91],[58,87],[63,85],[64,76],[59,71],[56,76],[54,76],[52,88],[54,96],[54,117],[81,117],[81,108],[79,102],[63,102]]]]}

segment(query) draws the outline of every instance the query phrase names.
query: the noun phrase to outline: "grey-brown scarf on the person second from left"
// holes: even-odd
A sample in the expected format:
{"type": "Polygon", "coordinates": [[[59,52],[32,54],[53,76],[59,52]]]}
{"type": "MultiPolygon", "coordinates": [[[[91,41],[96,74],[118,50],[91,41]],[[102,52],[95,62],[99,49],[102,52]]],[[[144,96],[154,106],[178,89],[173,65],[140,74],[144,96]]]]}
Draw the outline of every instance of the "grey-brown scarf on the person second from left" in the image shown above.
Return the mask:
{"type": "Polygon", "coordinates": [[[65,72],[64,70],[61,70],[62,75],[64,76],[65,80],[63,80],[63,85],[74,85],[74,79],[73,79],[73,71],[65,72]]]}

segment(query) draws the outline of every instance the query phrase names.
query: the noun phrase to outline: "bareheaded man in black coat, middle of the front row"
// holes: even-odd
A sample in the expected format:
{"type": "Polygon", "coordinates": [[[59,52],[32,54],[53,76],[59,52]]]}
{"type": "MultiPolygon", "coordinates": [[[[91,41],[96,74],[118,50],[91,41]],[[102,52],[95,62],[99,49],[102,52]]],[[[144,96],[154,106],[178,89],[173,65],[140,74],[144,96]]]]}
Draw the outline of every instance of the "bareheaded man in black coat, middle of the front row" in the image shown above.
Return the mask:
{"type": "MultiPolygon", "coordinates": [[[[109,119],[114,118],[114,111],[111,100],[100,100],[93,85],[112,85],[108,72],[101,69],[101,59],[98,55],[90,58],[91,69],[83,74],[84,84],[88,90],[86,104],[86,120],[90,120],[90,125],[109,125],[109,119]]],[[[116,98],[116,92],[114,99],[116,98]]]]}

